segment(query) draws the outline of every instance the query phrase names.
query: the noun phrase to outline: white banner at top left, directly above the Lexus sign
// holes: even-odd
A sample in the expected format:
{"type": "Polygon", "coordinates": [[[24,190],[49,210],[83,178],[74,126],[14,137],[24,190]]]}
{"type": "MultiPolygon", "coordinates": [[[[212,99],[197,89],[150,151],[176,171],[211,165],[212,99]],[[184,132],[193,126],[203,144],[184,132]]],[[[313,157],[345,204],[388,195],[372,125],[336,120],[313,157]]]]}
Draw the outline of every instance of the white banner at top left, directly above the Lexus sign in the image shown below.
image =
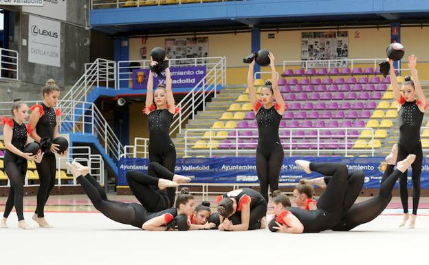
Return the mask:
{"type": "Polygon", "coordinates": [[[67,20],[67,0],[44,0],[43,7],[24,6],[23,12],[39,14],[52,19],[67,20]]]}

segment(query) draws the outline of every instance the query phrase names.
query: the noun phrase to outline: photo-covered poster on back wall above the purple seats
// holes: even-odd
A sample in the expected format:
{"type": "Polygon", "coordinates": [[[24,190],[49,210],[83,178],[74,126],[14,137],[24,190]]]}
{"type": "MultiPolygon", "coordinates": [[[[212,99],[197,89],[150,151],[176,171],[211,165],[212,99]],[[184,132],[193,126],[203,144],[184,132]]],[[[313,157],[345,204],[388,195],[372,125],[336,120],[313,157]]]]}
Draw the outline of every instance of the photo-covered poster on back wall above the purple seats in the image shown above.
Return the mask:
{"type": "MultiPolygon", "coordinates": [[[[344,32],[303,32],[301,34],[301,60],[337,60],[331,67],[347,67],[349,35],[344,32]]],[[[312,62],[308,67],[327,67],[327,62],[312,62]]]]}

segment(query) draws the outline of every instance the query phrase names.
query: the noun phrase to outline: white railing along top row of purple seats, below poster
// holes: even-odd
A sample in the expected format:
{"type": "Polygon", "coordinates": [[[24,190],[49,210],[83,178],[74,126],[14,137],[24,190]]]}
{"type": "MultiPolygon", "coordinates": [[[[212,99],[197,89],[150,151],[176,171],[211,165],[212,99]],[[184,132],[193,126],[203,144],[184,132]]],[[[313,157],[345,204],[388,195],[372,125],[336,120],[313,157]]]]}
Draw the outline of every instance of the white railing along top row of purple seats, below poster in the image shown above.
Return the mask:
{"type": "Polygon", "coordinates": [[[378,63],[386,61],[386,59],[338,59],[338,60],[311,60],[311,61],[283,61],[283,71],[287,66],[301,66],[303,69],[308,68],[339,68],[350,67],[353,70],[355,65],[373,64],[374,70],[377,68],[378,63]]]}

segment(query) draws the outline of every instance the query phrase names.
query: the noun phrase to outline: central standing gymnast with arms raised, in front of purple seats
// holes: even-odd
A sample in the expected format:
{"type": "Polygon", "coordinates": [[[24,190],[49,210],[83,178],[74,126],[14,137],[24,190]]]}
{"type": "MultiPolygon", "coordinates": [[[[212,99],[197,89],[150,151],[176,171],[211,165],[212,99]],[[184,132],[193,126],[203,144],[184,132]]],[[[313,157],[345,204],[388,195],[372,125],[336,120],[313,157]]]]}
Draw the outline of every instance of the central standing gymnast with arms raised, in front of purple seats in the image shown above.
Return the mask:
{"type": "Polygon", "coordinates": [[[258,173],[261,194],[268,202],[268,186],[271,191],[278,189],[278,176],[283,165],[283,147],[278,137],[278,127],[285,112],[285,101],[278,89],[278,76],[274,66],[274,55],[270,52],[272,81],[265,82],[261,88],[261,100],[256,98],[253,68],[255,60],[249,64],[248,88],[250,104],[258,121],[258,147],[256,148],[256,171],[258,173]],[[273,104],[274,99],[276,104],[273,104]]]}

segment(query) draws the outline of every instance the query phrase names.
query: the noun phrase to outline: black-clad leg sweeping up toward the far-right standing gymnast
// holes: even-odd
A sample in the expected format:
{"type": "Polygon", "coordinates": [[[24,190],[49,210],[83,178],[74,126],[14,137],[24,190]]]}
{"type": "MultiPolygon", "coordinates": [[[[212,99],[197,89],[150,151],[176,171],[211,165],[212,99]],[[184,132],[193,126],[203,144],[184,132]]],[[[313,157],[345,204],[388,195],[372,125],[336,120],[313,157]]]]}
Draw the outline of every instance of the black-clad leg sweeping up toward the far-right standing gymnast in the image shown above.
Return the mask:
{"type": "Polygon", "coordinates": [[[342,222],[333,227],[334,231],[349,231],[360,224],[370,222],[377,218],[391,201],[392,191],[401,171],[393,171],[394,165],[387,165],[383,173],[380,193],[364,202],[353,204],[342,218],[342,222]]]}

